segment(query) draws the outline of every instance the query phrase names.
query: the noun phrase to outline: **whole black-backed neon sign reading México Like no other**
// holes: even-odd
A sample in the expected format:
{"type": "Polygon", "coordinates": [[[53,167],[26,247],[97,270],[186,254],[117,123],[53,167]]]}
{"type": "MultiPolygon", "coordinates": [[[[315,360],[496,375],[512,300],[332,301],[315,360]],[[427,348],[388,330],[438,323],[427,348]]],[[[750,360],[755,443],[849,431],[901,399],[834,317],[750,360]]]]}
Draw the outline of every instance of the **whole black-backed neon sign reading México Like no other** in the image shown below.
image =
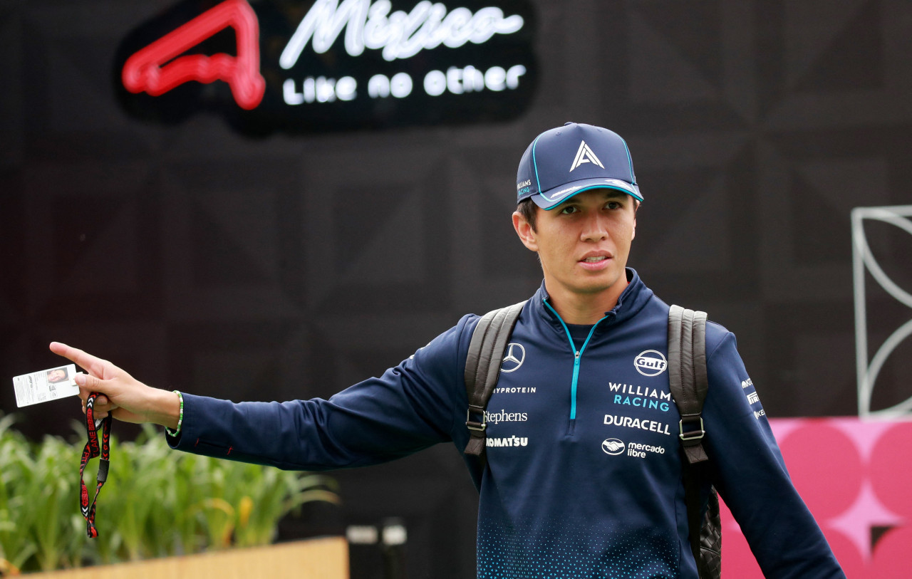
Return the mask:
{"type": "Polygon", "coordinates": [[[185,0],[114,61],[131,115],[202,111],[247,133],[518,117],[536,84],[530,0],[185,0]]]}

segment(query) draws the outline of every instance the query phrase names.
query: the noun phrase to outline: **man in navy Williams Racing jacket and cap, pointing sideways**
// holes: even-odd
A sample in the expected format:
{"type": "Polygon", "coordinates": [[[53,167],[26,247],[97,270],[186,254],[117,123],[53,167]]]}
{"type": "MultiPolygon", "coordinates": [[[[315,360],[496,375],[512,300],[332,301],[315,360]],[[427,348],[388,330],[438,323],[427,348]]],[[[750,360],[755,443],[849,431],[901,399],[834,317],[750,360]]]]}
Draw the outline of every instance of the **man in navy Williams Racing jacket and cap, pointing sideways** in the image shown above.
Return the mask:
{"type": "MultiPolygon", "coordinates": [[[[627,144],[583,124],[545,131],[520,161],[517,199],[513,226],[538,253],[544,284],[523,307],[488,405],[486,466],[468,462],[481,492],[478,576],[694,579],[679,414],[662,363],[668,305],[626,267],[643,200],[627,144]]],[[[161,424],[180,450],[320,470],[448,440],[462,449],[477,323],[464,316],[329,400],[282,404],[166,392],[80,350],[51,349],[88,369],[80,395],[106,395],[98,416],[161,424]]],[[[705,446],[764,573],[844,577],[788,478],[734,336],[710,324],[706,341],[705,446]]]]}

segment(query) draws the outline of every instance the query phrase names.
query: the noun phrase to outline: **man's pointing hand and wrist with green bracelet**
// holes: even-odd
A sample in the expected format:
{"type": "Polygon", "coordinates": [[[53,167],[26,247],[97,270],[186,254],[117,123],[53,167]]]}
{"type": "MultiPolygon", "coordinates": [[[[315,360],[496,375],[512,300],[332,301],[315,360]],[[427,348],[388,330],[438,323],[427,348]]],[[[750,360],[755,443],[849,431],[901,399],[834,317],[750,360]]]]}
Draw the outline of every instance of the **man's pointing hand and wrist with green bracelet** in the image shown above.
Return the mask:
{"type": "Polygon", "coordinates": [[[78,348],[59,342],[51,342],[50,348],[58,356],[66,357],[88,371],[88,375],[78,374],[76,377],[83,412],[86,411],[88,395],[99,392],[101,396],[96,398],[94,407],[98,419],[110,413],[115,419],[125,422],[151,422],[169,429],[177,428],[181,403],[173,392],[151,388],[108,360],[78,348]]]}

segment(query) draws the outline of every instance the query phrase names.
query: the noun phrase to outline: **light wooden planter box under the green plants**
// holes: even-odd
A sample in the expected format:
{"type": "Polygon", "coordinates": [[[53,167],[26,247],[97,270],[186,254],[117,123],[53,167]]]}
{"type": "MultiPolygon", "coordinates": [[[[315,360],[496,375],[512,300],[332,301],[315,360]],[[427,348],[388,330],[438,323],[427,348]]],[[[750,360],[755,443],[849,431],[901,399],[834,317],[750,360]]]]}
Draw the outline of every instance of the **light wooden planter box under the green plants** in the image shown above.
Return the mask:
{"type": "Polygon", "coordinates": [[[27,574],[35,579],[348,579],[345,537],[27,574]]]}

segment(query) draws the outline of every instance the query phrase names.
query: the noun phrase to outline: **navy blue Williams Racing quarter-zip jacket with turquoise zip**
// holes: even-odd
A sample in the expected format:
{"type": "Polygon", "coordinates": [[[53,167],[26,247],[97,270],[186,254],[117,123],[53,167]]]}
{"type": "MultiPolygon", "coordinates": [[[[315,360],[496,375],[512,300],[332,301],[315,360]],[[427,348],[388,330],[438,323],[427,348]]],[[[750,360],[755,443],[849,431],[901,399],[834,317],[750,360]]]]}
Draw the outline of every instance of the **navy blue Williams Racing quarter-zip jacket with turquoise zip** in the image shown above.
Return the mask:
{"type": "MultiPolygon", "coordinates": [[[[478,576],[696,579],[668,389],[668,305],[636,272],[595,326],[565,326],[544,285],[523,308],[488,405],[478,576]]],[[[242,402],[184,394],[171,446],[282,469],[465,447],[466,352],[477,315],[328,400],[242,402]]],[[[794,490],[751,378],[722,326],[707,325],[703,417],[716,487],[767,577],[845,577],[794,490]]]]}

